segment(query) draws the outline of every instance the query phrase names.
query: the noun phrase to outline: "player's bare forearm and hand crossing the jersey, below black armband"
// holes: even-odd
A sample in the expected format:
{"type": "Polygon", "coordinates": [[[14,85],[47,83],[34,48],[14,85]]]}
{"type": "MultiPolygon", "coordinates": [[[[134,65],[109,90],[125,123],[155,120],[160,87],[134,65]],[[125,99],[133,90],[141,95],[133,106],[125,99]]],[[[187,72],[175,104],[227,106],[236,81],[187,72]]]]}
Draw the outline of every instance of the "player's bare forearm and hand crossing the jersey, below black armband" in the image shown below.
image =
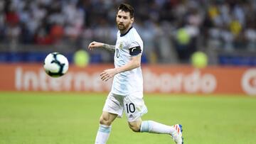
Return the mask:
{"type": "Polygon", "coordinates": [[[104,70],[100,74],[100,77],[102,81],[107,81],[108,79],[111,79],[112,77],[114,77],[115,74],[118,74],[120,72],[126,72],[129,70],[135,69],[137,67],[140,67],[141,59],[142,59],[142,54],[136,55],[132,57],[131,61],[129,61],[126,65],[123,65],[122,67],[116,67],[114,69],[104,70]]]}

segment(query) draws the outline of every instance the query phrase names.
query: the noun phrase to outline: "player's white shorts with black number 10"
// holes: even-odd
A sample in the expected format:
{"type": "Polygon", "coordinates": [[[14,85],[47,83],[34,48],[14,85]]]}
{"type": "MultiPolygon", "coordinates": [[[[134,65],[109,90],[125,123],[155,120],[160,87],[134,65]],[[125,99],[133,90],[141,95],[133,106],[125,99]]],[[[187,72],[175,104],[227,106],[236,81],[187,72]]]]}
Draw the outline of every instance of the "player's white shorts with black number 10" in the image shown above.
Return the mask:
{"type": "Polygon", "coordinates": [[[115,113],[122,118],[123,112],[127,116],[127,121],[136,121],[144,113],[147,113],[143,100],[143,92],[135,92],[127,96],[110,94],[107,96],[103,111],[115,113]]]}

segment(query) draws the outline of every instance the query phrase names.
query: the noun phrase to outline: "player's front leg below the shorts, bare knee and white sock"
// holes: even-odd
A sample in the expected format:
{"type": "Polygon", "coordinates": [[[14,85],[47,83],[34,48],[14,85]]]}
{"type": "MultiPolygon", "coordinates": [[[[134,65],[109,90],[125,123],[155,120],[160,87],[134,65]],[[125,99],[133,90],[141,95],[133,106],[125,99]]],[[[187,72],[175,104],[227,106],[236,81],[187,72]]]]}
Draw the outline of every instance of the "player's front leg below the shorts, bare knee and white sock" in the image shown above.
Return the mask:
{"type": "Polygon", "coordinates": [[[111,124],[115,118],[117,118],[117,114],[109,113],[107,111],[102,112],[102,115],[100,116],[100,127],[97,131],[95,143],[107,143],[107,140],[110,137],[111,124]]]}

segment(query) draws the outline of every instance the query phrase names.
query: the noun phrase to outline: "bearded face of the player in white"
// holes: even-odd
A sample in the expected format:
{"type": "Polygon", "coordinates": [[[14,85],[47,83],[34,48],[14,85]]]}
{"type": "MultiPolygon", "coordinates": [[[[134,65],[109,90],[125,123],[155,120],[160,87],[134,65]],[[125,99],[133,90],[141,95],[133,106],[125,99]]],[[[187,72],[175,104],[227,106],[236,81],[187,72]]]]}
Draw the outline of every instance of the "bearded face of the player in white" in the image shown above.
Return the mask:
{"type": "Polygon", "coordinates": [[[129,12],[119,10],[117,12],[117,28],[119,31],[126,31],[132,26],[134,18],[129,16],[129,12]]]}

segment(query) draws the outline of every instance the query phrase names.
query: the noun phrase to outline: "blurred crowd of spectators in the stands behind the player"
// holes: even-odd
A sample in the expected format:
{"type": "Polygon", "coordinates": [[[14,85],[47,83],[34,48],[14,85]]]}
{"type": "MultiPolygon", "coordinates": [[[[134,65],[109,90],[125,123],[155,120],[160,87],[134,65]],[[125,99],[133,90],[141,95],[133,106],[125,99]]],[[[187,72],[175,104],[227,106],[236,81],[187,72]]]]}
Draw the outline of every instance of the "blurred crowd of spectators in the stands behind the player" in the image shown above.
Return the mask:
{"type": "MultiPolygon", "coordinates": [[[[134,6],[134,27],[147,62],[187,62],[196,50],[256,50],[255,0],[5,0],[0,43],[86,49],[92,40],[114,45],[117,6],[134,6]]],[[[95,50],[104,62],[108,52],[95,50]]]]}

